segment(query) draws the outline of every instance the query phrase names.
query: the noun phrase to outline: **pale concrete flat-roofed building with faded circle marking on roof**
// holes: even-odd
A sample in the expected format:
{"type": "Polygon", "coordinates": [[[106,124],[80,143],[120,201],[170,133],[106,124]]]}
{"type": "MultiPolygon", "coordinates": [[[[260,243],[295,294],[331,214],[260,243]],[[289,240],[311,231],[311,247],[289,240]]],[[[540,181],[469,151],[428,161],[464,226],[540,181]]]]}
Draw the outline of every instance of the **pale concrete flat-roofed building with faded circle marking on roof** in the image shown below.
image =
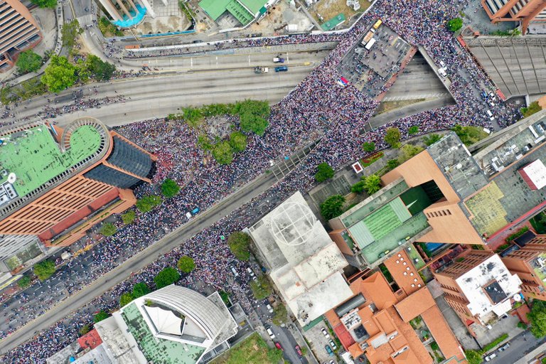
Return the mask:
{"type": "Polygon", "coordinates": [[[248,228],[270,276],[301,326],[352,296],[347,262],[296,192],[248,228]]]}

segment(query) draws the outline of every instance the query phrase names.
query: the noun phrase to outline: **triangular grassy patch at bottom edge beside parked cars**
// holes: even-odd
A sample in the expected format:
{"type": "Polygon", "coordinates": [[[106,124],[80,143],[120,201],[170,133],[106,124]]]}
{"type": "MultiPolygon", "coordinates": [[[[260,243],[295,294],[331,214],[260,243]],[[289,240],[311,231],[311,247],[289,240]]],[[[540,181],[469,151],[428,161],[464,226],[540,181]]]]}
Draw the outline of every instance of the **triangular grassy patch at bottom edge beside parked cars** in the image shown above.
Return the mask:
{"type": "Polygon", "coordinates": [[[210,363],[213,364],[277,364],[282,358],[282,351],[269,348],[258,335],[251,336],[233,346],[210,363]]]}

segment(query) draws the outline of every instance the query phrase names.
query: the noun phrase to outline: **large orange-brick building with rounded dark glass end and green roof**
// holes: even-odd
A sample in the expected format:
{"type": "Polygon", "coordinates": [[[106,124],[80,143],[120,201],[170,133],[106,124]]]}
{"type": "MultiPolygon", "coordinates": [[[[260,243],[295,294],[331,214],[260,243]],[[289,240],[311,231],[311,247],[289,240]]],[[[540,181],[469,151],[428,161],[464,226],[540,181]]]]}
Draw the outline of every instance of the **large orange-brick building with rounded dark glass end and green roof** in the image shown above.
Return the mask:
{"type": "Polygon", "coordinates": [[[89,117],[65,129],[33,123],[0,132],[0,262],[36,241],[14,237],[70,245],[131,207],[130,188],[151,182],[155,159],[89,117]]]}

